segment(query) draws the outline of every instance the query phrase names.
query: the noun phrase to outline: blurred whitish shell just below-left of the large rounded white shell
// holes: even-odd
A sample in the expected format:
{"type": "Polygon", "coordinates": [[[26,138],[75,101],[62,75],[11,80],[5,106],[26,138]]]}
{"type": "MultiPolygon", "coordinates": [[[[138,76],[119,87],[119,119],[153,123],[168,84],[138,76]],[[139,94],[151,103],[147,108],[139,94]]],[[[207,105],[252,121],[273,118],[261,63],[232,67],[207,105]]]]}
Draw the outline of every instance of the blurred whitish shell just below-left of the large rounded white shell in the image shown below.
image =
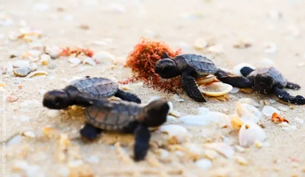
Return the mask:
{"type": "Polygon", "coordinates": [[[204,146],[206,148],[216,150],[219,154],[223,155],[224,157],[227,157],[228,159],[232,159],[234,156],[234,149],[226,143],[206,143],[204,144],[204,146]]]}

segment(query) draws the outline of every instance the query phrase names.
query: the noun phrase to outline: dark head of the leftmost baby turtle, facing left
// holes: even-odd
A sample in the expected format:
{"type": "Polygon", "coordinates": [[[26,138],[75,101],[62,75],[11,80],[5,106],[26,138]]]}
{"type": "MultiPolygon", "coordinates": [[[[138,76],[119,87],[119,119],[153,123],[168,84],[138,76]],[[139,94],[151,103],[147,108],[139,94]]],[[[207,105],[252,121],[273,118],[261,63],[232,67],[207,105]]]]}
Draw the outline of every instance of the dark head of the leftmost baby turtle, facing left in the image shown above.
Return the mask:
{"type": "Polygon", "coordinates": [[[45,93],[43,106],[49,109],[64,109],[70,106],[70,99],[64,90],[52,90],[45,93]]]}

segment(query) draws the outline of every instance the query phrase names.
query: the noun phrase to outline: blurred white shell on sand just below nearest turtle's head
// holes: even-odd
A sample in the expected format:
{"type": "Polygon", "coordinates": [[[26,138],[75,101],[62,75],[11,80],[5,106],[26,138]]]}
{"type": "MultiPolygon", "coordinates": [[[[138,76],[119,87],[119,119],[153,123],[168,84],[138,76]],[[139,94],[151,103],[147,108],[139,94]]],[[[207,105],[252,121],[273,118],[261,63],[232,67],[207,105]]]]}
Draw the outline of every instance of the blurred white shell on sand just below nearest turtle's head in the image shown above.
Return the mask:
{"type": "Polygon", "coordinates": [[[166,132],[170,137],[176,136],[179,143],[182,143],[188,136],[188,131],[181,125],[162,125],[159,129],[161,132],[166,132]]]}

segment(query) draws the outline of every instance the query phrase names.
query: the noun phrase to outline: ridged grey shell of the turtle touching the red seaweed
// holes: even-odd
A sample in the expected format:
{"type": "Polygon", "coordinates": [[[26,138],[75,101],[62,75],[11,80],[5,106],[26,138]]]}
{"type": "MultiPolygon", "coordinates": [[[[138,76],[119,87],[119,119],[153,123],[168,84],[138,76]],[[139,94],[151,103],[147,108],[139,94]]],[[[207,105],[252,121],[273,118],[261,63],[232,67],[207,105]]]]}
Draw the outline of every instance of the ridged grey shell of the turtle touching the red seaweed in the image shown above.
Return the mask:
{"type": "Polygon", "coordinates": [[[175,59],[184,59],[188,66],[192,67],[199,75],[214,74],[217,67],[212,60],[196,54],[182,54],[175,56],[175,59]]]}

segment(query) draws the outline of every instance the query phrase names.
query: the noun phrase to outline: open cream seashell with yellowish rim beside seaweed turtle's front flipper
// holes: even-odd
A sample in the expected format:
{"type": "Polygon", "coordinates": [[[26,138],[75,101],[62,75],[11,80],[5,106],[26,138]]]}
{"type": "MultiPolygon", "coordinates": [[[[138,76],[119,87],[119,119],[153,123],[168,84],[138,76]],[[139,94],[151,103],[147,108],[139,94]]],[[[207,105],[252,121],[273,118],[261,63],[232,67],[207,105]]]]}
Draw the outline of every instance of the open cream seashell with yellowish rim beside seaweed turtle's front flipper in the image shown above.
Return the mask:
{"type": "Polygon", "coordinates": [[[200,85],[198,89],[209,96],[222,96],[229,93],[233,87],[222,82],[213,82],[210,85],[200,85]]]}

